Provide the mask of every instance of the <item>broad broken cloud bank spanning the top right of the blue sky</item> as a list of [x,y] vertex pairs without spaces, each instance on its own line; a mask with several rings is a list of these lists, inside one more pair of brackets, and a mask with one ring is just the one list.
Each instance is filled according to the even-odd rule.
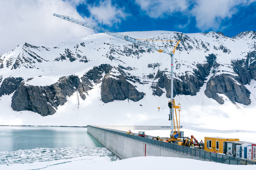
[[[249,6],[256,0],[135,0],[142,11],[151,18],[165,18],[179,14],[190,18],[195,17],[196,27],[201,31],[212,29],[214,31],[225,29],[229,25],[221,26],[239,11],[241,6]],[[171,21],[170,21],[171,22]],[[187,25],[177,25],[185,28]]]

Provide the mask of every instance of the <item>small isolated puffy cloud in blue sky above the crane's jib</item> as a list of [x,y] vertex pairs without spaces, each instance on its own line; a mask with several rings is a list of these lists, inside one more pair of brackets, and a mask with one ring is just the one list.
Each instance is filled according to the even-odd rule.
[[103,0],[98,5],[88,7],[91,16],[102,24],[113,26],[113,23],[120,23],[129,14],[124,12],[124,8],[118,8],[111,4],[111,0]]

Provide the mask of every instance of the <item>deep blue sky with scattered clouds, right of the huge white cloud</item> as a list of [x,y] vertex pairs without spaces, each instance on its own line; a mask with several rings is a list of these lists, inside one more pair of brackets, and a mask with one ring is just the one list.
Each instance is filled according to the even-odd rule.
[[[256,1],[249,0],[88,0],[76,9],[115,32],[215,31],[231,37],[256,31]],[[100,11],[108,11],[109,18],[98,14]]]

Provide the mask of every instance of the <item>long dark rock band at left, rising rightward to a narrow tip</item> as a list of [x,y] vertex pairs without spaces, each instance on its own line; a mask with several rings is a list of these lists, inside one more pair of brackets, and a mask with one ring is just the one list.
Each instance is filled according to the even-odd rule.
[[[31,86],[24,84],[19,86],[23,79],[12,78],[12,81],[6,80],[7,83],[12,82],[13,86],[6,93],[10,94],[16,90],[13,94],[11,104],[12,109],[15,111],[29,110],[39,113],[42,116],[52,115],[56,112],[59,105],[62,106],[67,102],[66,97],[70,97],[77,90],[81,98],[85,100],[85,93],[92,89],[92,83],[98,83],[102,78],[103,72],[108,73],[110,70],[110,65],[102,64],[83,75],[81,77],[82,82],[78,76],[70,75],[61,77],[57,83],[50,86]],[[16,86],[14,86],[15,82],[17,82]],[[1,89],[6,89],[6,83],[3,82],[3,84]],[[17,86],[19,87],[17,88]]]

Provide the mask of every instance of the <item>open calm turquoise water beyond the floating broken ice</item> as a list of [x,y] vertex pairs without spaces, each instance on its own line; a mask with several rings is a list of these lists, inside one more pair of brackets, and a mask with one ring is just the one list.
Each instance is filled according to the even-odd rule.
[[101,147],[87,128],[0,126],[0,152],[35,148]]

